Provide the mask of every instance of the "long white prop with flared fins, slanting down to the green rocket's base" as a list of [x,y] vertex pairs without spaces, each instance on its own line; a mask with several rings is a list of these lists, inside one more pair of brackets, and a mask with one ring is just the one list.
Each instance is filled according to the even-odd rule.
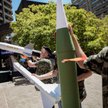
[[44,84],[35,76],[19,64],[16,60],[13,60],[13,65],[24,77],[26,77],[31,83],[41,91],[42,102],[44,108],[52,108],[55,103],[58,103],[61,99],[60,85],[59,84]]

